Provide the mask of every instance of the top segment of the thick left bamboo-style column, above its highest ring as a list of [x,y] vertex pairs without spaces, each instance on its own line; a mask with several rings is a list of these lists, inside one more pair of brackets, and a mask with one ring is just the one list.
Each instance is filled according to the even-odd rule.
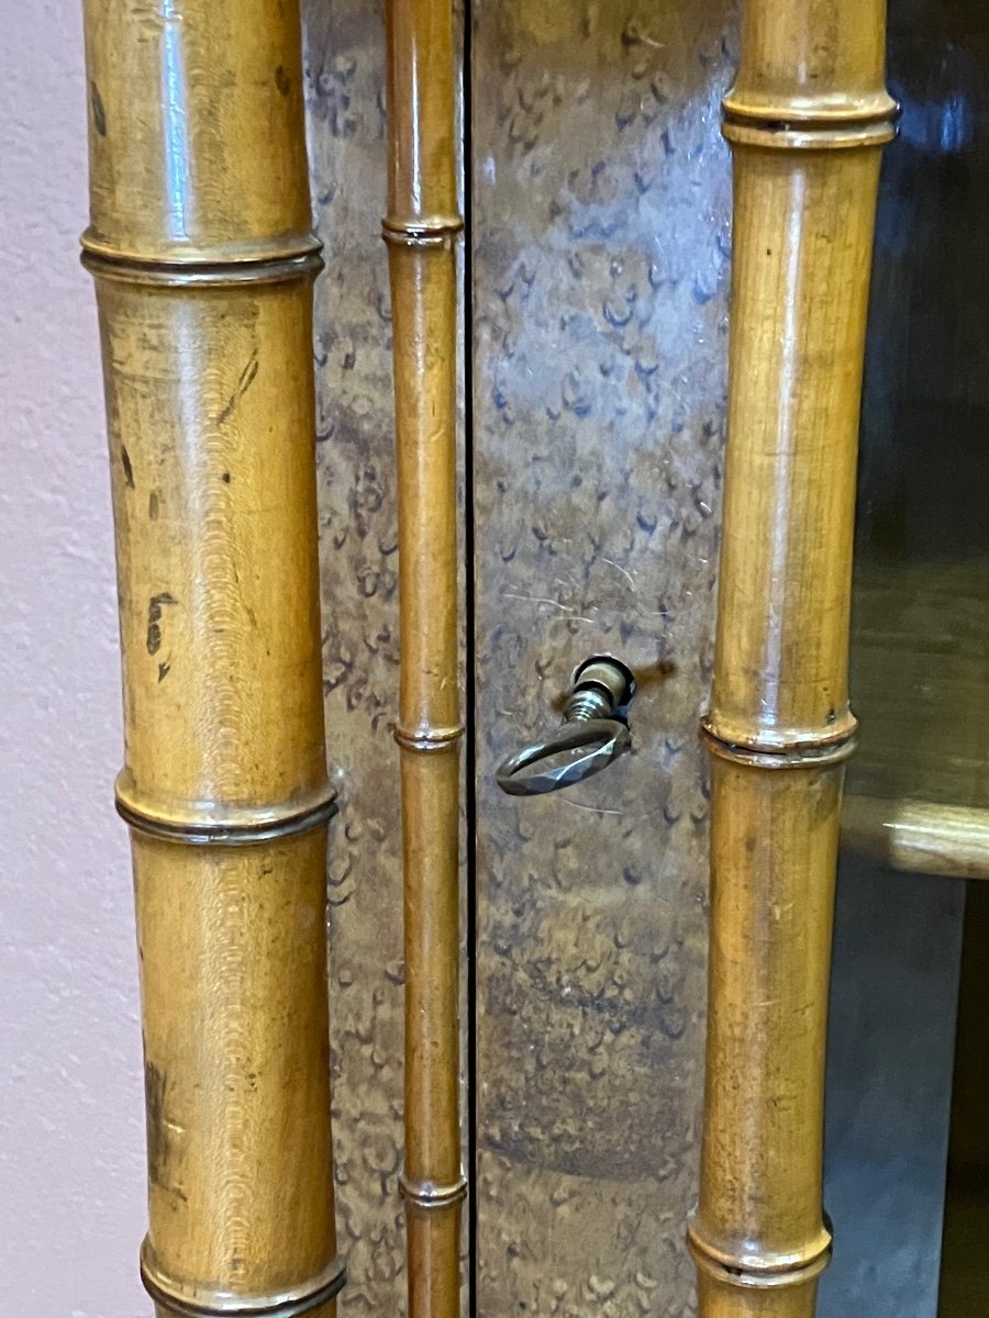
[[86,0],[90,252],[196,265],[314,246],[298,0],[269,8]]

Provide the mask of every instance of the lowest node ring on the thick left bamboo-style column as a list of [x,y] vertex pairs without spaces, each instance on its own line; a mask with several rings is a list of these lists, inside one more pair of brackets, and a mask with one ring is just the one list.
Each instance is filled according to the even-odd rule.
[[299,1318],[328,1304],[347,1284],[347,1260],[335,1255],[322,1272],[298,1286],[270,1296],[240,1296],[232,1290],[190,1289],[166,1276],[150,1240],[141,1246],[141,1281],[156,1305],[178,1318]]

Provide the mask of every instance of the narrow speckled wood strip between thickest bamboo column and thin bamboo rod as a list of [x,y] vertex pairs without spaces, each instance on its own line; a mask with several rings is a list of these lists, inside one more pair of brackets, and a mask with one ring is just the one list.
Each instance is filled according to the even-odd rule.
[[[326,261],[315,355],[324,699],[340,792],[330,903],[338,1218],[348,1253],[342,1311],[378,1315],[402,1313],[406,1304],[402,824],[392,739],[400,712],[400,482],[381,240],[384,0],[307,0],[303,28],[313,195]],[[462,978],[463,970],[462,953]]]

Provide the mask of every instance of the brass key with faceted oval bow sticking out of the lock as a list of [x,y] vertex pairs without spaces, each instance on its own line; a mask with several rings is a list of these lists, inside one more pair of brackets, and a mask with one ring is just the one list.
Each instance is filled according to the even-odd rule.
[[509,755],[497,783],[509,796],[542,796],[583,783],[632,749],[628,706],[636,679],[613,655],[592,655],[574,670],[563,724]]

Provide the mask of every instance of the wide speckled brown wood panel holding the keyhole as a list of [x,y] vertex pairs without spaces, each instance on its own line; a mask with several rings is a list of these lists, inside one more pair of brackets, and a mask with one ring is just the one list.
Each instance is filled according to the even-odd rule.
[[[473,7],[477,1311],[692,1313],[731,5]],[[634,754],[498,793],[597,650]]]

